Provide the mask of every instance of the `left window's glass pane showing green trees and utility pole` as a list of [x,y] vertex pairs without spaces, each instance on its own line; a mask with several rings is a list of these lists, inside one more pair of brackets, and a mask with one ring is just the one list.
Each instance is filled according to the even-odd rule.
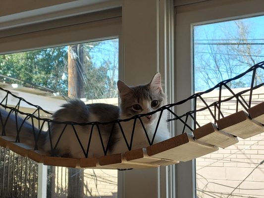
[[[117,105],[117,79],[118,39],[0,56],[0,87],[50,112],[59,109],[69,98],[80,98],[85,103]],[[23,102],[20,107],[23,111],[32,112]],[[43,113],[42,117],[50,115]],[[1,151],[0,158],[4,159],[5,155],[8,158],[9,153]],[[5,167],[3,163],[0,160],[0,170]],[[5,180],[0,181],[3,181],[1,186],[10,186],[10,180],[6,184]],[[34,182],[37,184],[36,178]],[[36,193],[34,189],[31,194],[36,196]],[[47,197],[116,198],[117,170],[48,166]]]

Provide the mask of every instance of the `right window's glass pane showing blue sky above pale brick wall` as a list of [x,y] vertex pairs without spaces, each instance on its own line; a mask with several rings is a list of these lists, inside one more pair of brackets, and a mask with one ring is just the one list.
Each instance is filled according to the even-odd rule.
[[[205,91],[217,83],[233,78],[264,60],[264,16],[194,26],[194,87]],[[251,74],[228,84],[238,93],[251,86]],[[258,70],[254,85],[264,82]],[[264,88],[253,91],[252,106],[264,101]],[[217,101],[219,90],[204,97],[208,104]],[[222,97],[231,97],[223,89]],[[249,99],[249,93],[243,95]],[[197,108],[205,105],[197,100]],[[241,105],[238,105],[238,110]],[[236,112],[235,99],[221,105],[223,116]],[[202,126],[211,119],[209,111],[197,113]],[[198,198],[263,198],[264,133],[196,159]]]

